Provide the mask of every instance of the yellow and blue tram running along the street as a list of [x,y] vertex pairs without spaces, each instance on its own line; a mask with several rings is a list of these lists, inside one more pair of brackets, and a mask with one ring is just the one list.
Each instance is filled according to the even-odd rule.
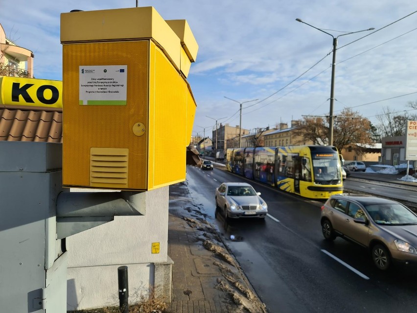
[[343,193],[334,146],[290,145],[227,149],[227,170],[311,199]]

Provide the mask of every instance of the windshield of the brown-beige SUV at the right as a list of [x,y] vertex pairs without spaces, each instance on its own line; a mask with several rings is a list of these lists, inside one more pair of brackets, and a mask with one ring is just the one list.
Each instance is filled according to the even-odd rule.
[[366,209],[379,225],[417,225],[417,216],[399,203],[370,204]]

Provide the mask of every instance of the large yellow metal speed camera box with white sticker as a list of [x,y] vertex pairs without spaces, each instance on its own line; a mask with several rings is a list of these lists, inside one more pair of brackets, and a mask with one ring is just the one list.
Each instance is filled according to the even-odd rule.
[[198,46],[185,20],[172,24],[153,7],[61,14],[64,186],[147,191],[185,180]]

